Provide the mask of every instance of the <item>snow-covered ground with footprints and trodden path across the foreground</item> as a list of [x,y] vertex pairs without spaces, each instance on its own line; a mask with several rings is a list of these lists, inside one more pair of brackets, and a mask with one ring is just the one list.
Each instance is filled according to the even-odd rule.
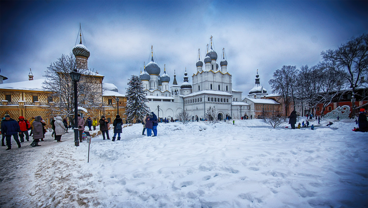
[[368,133],[353,121],[314,131],[230,122],[159,124],[157,137],[134,124],[122,141],[93,138],[89,163],[73,133],[56,143],[48,132],[41,147],[13,140],[0,150],[0,207],[368,206]]

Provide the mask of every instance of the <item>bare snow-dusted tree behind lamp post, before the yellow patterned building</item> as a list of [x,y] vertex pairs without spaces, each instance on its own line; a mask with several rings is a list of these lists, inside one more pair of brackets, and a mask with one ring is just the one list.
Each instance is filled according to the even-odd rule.
[[[74,56],[61,55],[56,62],[50,64],[45,71],[43,88],[50,92],[46,107],[49,118],[53,116],[68,117],[74,111],[74,83],[71,81],[70,72],[77,69]],[[78,107],[86,109],[102,109],[102,84],[100,78],[91,70],[77,69],[81,73],[78,82]],[[50,102],[52,101],[52,102]]]

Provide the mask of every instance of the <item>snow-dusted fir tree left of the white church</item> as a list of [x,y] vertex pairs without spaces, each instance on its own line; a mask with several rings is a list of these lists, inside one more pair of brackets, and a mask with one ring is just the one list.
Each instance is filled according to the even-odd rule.
[[143,84],[138,76],[132,75],[128,81],[128,88],[125,96],[127,97],[127,106],[125,107],[125,115],[129,121],[133,118],[142,120],[146,113],[149,113],[146,102],[146,92],[143,90]]

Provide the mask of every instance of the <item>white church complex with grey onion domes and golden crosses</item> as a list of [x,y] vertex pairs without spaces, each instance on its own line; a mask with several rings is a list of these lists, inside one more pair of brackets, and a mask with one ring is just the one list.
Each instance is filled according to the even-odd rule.
[[239,119],[247,115],[254,118],[264,111],[279,110],[280,103],[266,99],[268,94],[260,84],[258,70],[255,85],[249,91],[248,98],[241,98],[242,91],[233,89],[224,48],[219,69],[217,53],[212,48],[212,36],[210,47],[207,45],[204,66],[198,50],[197,70],[192,75],[192,83],[189,83],[185,69],[183,84],[177,84],[174,73],[173,83],[169,86],[170,76],[166,73],[165,66],[161,73],[161,68],[153,59],[152,47],[151,55],[151,62],[144,67],[139,77],[148,98],[146,104],[159,117],[176,118],[177,113],[185,110],[196,120],[197,117],[204,118],[206,110],[214,109],[217,118],[223,120],[227,116]]

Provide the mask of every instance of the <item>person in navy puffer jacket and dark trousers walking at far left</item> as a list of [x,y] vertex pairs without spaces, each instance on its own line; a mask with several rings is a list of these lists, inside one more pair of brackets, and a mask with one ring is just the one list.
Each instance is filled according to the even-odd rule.
[[18,132],[21,132],[21,129],[19,128],[18,122],[10,118],[9,115],[6,115],[5,120],[1,123],[1,132],[5,133],[6,146],[8,146],[6,150],[11,150],[11,136],[13,136],[15,142],[17,142],[18,148],[21,147],[21,143],[18,139]]

